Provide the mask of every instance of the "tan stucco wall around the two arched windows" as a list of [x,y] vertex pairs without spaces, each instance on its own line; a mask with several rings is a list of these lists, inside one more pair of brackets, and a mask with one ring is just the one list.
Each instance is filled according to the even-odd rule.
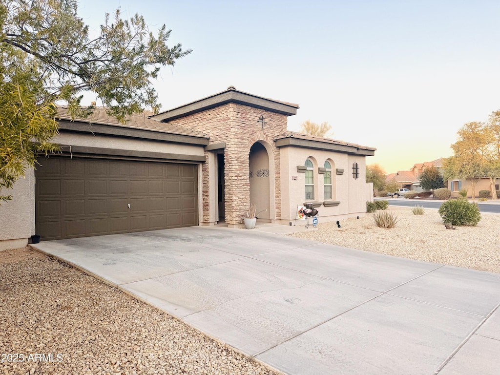
[[[309,157],[314,165],[314,200],[324,201],[323,174],[318,173],[325,160],[332,164],[332,200],[339,200],[338,206],[325,207],[321,205],[319,211],[320,221],[336,220],[339,218],[363,216],[366,212],[366,197],[368,185],[365,183],[365,158],[364,156],[351,156],[345,153],[313,150],[300,147],[281,147],[281,193],[282,215],[281,222],[287,223],[295,218],[297,205],[302,205],[305,200],[305,173],[297,172],[297,165],[304,165]],[[352,178],[352,163],[359,164],[359,178]],[[334,164],[334,165],[333,165]],[[343,174],[335,174],[335,168],[344,169]],[[292,180],[297,176],[297,180]]]

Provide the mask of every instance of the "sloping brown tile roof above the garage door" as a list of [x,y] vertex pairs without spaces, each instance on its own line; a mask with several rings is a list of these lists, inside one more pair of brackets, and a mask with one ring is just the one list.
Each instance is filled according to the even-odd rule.
[[77,117],[71,119],[71,116],[67,110],[67,106],[62,106],[62,105],[57,106],[57,118],[61,120],[95,123],[95,124],[110,125],[110,126],[121,126],[121,127],[129,127],[142,130],[159,131],[163,133],[192,135],[197,137],[202,136],[208,138],[208,135],[202,132],[188,129],[168,122],[158,122],[151,118],[148,118],[148,116],[152,114],[153,113],[151,111],[146,111],[146,110],[143,111],[141,114],[132,114],[129,118],[127,118],[127,121],[123,124],[119,122],[116,118],[109,116],[106,113],[106,109],[104,107],[96,107],[93,113],[86,118]]

